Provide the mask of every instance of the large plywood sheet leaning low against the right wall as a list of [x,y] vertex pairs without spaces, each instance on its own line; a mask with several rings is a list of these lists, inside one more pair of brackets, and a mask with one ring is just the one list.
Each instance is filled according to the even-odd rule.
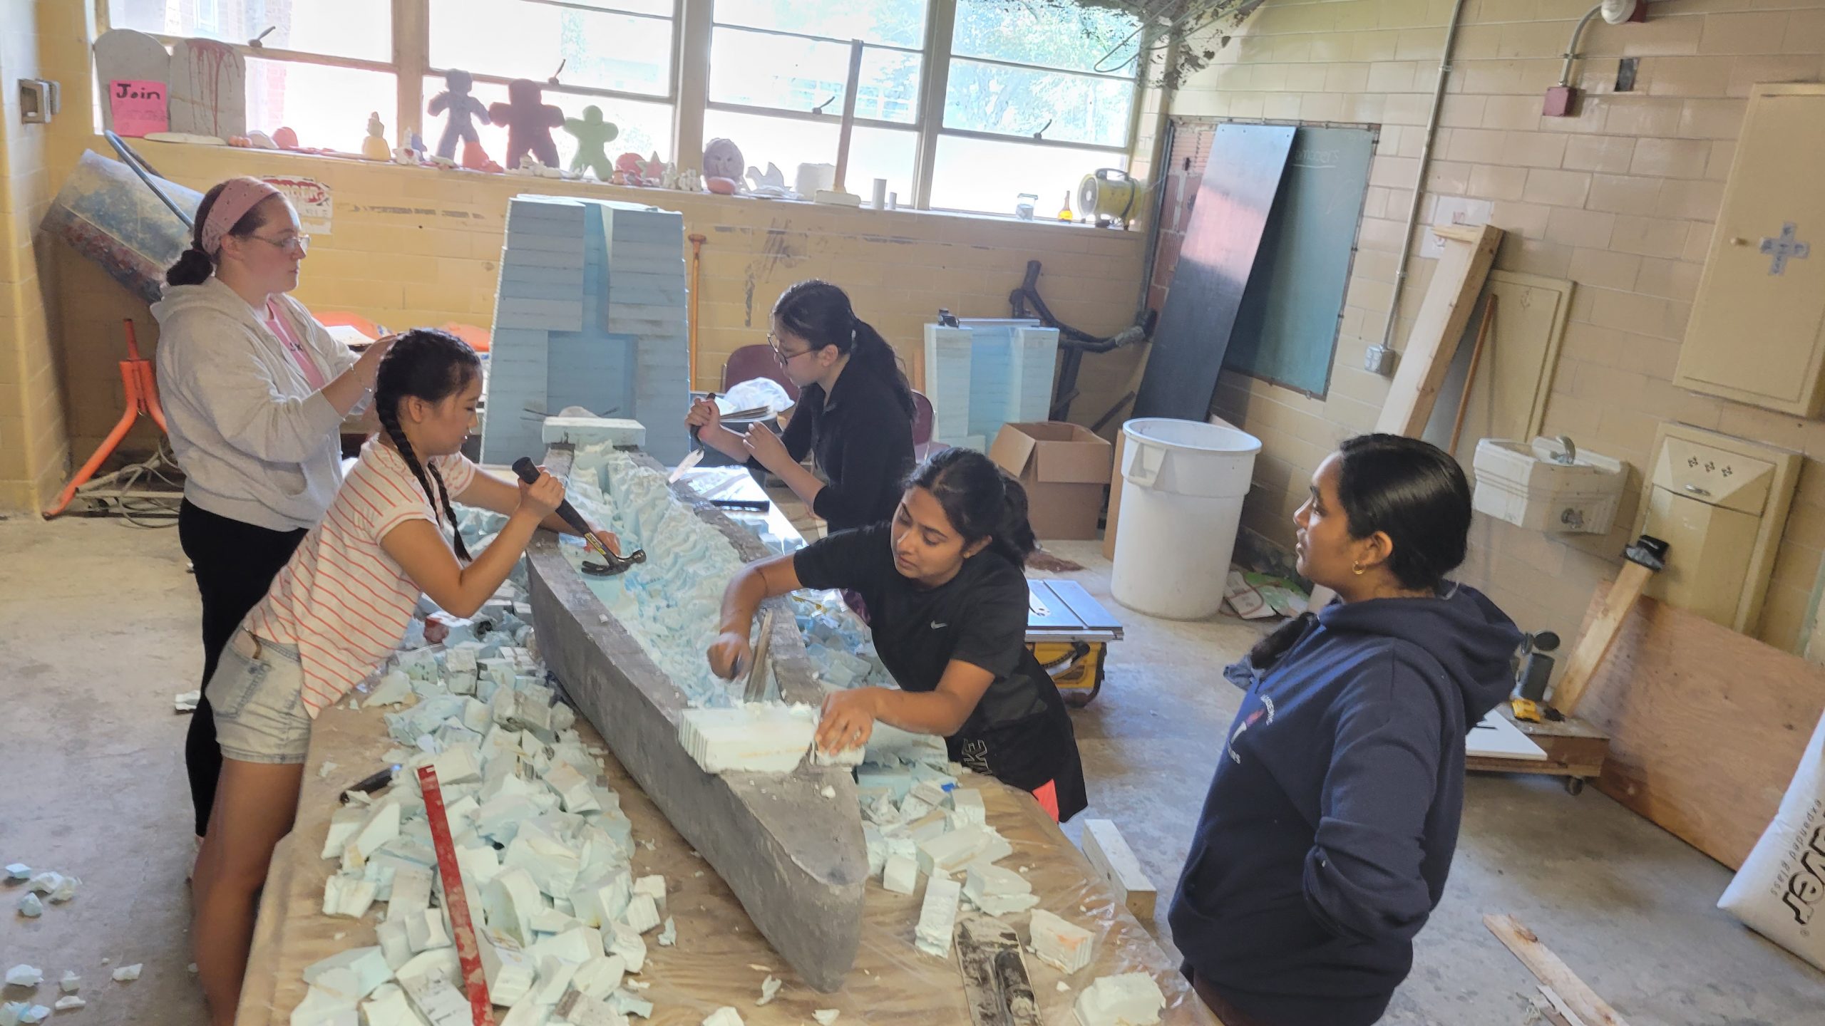
[[[1597,590],[1586,621],[1606,595]],[[1582,716],[1610,734],[1599,790],[1739,869],[1821,710],[1825,668],[1644,597],[1599,665]]]

